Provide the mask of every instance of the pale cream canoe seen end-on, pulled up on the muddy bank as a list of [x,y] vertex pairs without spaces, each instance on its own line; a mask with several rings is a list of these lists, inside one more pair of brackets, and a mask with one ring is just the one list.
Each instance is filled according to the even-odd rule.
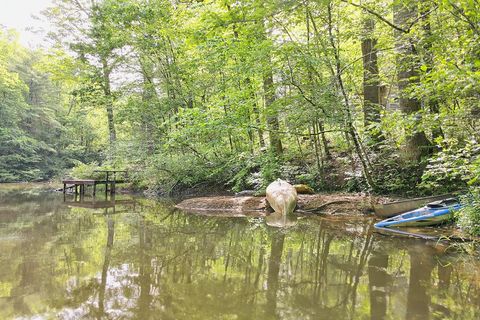
[[288,182],[277,179],[267,187],[267,201],[277,213],[293,213],[297,206],[297,190]]

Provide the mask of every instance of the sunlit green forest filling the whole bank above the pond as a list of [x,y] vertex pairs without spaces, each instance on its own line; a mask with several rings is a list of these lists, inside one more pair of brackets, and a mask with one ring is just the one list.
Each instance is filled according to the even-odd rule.
[[480,175],[480,3],[55,0],[0,29],[0,182],[432,194]]

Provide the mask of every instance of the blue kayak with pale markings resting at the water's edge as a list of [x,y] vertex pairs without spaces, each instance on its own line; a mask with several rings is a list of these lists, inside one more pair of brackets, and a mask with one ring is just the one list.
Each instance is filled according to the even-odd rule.
[[419,209],[409,211],[393,218],[382,220],[375,224],[376,228],[388,227],[422,227],[441,224],[453,217],[453,212],[462,205],[451,198],[435,201]]

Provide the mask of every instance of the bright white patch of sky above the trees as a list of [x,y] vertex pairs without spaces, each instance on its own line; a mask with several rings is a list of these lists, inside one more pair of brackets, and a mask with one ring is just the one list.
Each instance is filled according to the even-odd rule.
[[20,33],[20,41],[24,45],[32,47],[42,45],[45,35],[43,31],[48,30],[48,24],[42,21],[44,18],[40,11],[50,6],[51,3],[51,0],[2,0],[0,25],[8,29],[16,29]]

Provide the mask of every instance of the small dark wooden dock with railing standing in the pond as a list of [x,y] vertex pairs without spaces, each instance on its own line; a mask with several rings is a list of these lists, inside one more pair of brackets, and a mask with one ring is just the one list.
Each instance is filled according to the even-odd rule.
[[104,173],[105,179],[64,179],[63,193],[66,193],[68,189],[75,190],[75,194],[80,196],[85,195],[85,190],[90,186],[92,187],[92,195],[97,193],[97,185],[105,185],[105,193],[110,191],[110,194],[115,193],[115,186],[120,183],[125,183],[125,179],[116,179],[117,173],[123,173],[127,175],[125,170],[95,170],[94,172]]

